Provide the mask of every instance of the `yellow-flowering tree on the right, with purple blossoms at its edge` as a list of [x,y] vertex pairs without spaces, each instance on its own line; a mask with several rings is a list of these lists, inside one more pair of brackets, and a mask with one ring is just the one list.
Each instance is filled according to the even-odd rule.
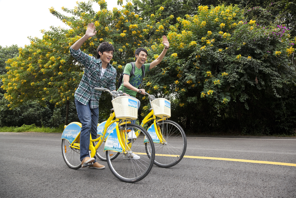
[[[243,131],[250,123],[257,127],[270,118],[274,124],[266,122],[259,130],[266,126],[294,130],[295,121],[289,127],[280,122],[287,115],[295,118],[289,110],[292,103],[287,102],[291,100],[287,94],[295,95],[295,38],[289,38],[286,27],[260,26],[255,20],[245,20],[238,7],[223,5],[200,6],[197,15],[177,20],[171,26],[160,24],[170,28],[170,55],[146,79],[152,92],[175,98],[182,109],[176,117],[183,126],[205,120],[206,109],[222,116],[217,119],[237,120]],[[152,45],[150,57],[157,57],[162,48]],[[265,116],[256,118],[257,123],[245,119],[247,110],[255,109]],[[204,122],[201,128],[211,124]]]

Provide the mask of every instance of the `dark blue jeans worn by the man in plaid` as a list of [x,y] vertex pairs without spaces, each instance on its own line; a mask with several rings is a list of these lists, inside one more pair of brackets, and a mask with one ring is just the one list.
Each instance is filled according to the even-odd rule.
[[[96,139],[97,127],[99,121],[99,107],[92,109],[90,100],[87,105],[82,104],[75,99],[78,118],[82,124],[80,132],[80,161],[89,157],[90,134],[92,139]],[[96,156],[94,156],[96,162]]]

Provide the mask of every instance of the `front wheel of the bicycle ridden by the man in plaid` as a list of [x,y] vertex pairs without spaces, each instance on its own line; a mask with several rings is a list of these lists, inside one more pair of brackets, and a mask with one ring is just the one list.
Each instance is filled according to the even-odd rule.
[[[134,183],[145,178],[152,169],[155,148],[152,138],[143,127],[136,124],[126,124],[123,125],[121,130],[126,128],[139,132],[137,139],[128,142],[131,148],[130,153],[119,153],[115,159],[111,160],[112,155],[110,156],[110,154],[112,151],[106,151],[106,158],[108,166],[115,177],[124,182]],[[149,147],[145,146],[144,139],[147,142],[145,144],[150,145]],[[146,149],[149,149],[149,151],[146,151]]]

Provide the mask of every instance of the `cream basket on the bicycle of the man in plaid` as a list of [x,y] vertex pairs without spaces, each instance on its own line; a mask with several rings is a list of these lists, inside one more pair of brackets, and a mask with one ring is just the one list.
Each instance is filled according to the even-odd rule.
[[138,100],[128,96],[119,96],[112,101],[115,117],[118,119],[138,118]]

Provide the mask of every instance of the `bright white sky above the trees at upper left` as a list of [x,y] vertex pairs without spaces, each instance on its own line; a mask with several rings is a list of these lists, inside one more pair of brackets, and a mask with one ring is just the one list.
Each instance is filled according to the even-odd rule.
[[[30,45],[28,36],[42,38],[42,29],[50,30],[50,26],[69,28],[52,15],[49,8],[54,7],[57,12],[68,15],[61,7],[73,9],[77,5],[76,1],[88,0],[0,0],[0,45],[24,47]],[[113,7],[121,9],[121,6],[117,5],[117,0],[106,2],[109,10]],[[126,4],[126,1],[123,4]],[[98,11],[99,5],[93,3],[93,9]]]

